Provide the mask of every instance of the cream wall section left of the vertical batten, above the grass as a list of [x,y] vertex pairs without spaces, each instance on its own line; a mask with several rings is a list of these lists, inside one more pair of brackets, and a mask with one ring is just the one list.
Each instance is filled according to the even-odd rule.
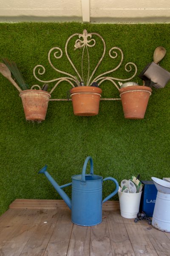
[[0,0],[0,21],[82,21],[81,0]]

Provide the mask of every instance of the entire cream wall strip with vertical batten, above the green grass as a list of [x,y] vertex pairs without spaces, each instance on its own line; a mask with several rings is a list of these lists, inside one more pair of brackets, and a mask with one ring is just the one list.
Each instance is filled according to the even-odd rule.
[[170,0],[0,0],[0,21],[170,22]]

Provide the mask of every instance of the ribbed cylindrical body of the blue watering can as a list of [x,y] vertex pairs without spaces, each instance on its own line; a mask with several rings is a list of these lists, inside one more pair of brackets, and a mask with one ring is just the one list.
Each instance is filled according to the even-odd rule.
[[[85,175],[85,183],[81,175],[72,177],[71,221],[81,226],[93,226],[102,221],[102,177]],[[87,180],[88,179],[88,180]]]

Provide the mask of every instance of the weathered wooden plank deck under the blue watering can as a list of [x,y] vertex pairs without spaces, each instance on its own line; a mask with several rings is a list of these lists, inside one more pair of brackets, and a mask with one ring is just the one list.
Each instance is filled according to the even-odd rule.
[[105,204],[101,224],[81,227],[62,201],[14,201],[0,216],[0,256],[170,256],[170,233],[110,208]]

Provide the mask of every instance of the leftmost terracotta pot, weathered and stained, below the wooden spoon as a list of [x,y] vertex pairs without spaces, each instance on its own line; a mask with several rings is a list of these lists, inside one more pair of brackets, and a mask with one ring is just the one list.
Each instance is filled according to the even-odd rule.
[[43,121],[51,95],[43,90],[23,90],[20,93],[26,120]]

